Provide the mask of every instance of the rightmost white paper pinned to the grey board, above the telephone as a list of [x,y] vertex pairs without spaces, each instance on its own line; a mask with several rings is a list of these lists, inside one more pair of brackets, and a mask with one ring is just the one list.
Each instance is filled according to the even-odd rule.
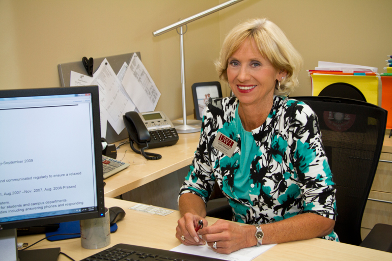
[[132,56],[122,84],[138,111],[155,110],[160,92],[136,53]]

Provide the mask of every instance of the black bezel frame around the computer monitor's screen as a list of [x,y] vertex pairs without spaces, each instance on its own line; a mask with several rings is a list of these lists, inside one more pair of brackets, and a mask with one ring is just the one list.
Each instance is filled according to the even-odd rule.
[[94,126],[93,135],[94,135],[96,191],[97,191],[96,200],[97,200],[97,207],[98,207],[97,211],[0,222],[0,230],[76,221],[76,220],[91,219],[91,218],[98,218],[98,217],[105,216],[98,86],[92,85],[92,86],[75,86],[75,87],[65,87],[65,88],[58,87],[58,88],[42,88],[42,89],[0,90],[0,98],[87,94],[87,93],[91,94],[92,97],[93,126]]

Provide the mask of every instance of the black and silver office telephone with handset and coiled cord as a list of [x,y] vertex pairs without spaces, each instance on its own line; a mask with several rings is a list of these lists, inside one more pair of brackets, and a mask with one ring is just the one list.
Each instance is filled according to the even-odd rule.
[[[162,156],[146,153],[145,149],[172,146],[178,141],[177,131],[163,111],[129,111],[123,115],[123,119],[128,131],[131,149],[142,154],[146,159],[157,160]],[[133,142],[136,142],[140,151],[134,148]]]

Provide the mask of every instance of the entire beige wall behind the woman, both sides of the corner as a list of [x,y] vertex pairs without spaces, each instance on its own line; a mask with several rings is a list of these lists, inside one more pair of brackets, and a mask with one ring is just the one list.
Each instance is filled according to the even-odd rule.
[[[0,89],[60,86],[57,65],[81,57],[140,51],[162,96],[157,110],[182,116],[180,47],[175,31],[152,32],[225,0],[0,0]],[[268,17],[304,57],[301,87],[310,95],[306,69],[318,61],[378,67],[392,54],[390,0],[244,0],[188,25],[185,41],[187,113],[190,86],[218,80],[213,61],[227,32],[246,18]],[[223,84],[223,95],[229,91]]]

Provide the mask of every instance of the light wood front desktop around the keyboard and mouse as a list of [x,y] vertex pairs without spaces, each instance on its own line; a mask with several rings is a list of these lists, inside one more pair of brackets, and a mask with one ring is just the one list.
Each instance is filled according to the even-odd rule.
[[[123,220],[117,223],[118,230],[111,234],[110,246],[119,243],[154,247],[170,250],[180,244],[175,237],[177,220],[180,217],[178,211],[167,216],[150,215],[143,212],[129,210],[136,203],[105,198],[106,207],[119,206],[126,212]],[[207,217],[209,224],[216,219]],[[43,235],[18,237],[18,242],[29,243],[29,245],[43,238]],[[86,258],[102,249],[84,249],[80,246],[80,239],[69,239],[63,241],[49,242],[44,240],[31,249],[61,247],[61,251],[75,260]],[[311,239],[297,242],[278,244],[254,260],[392,260],[392,253],[382,252],[369,248],[352,246],[323,239]],[[60,255],[60,261],[69,260]]]

